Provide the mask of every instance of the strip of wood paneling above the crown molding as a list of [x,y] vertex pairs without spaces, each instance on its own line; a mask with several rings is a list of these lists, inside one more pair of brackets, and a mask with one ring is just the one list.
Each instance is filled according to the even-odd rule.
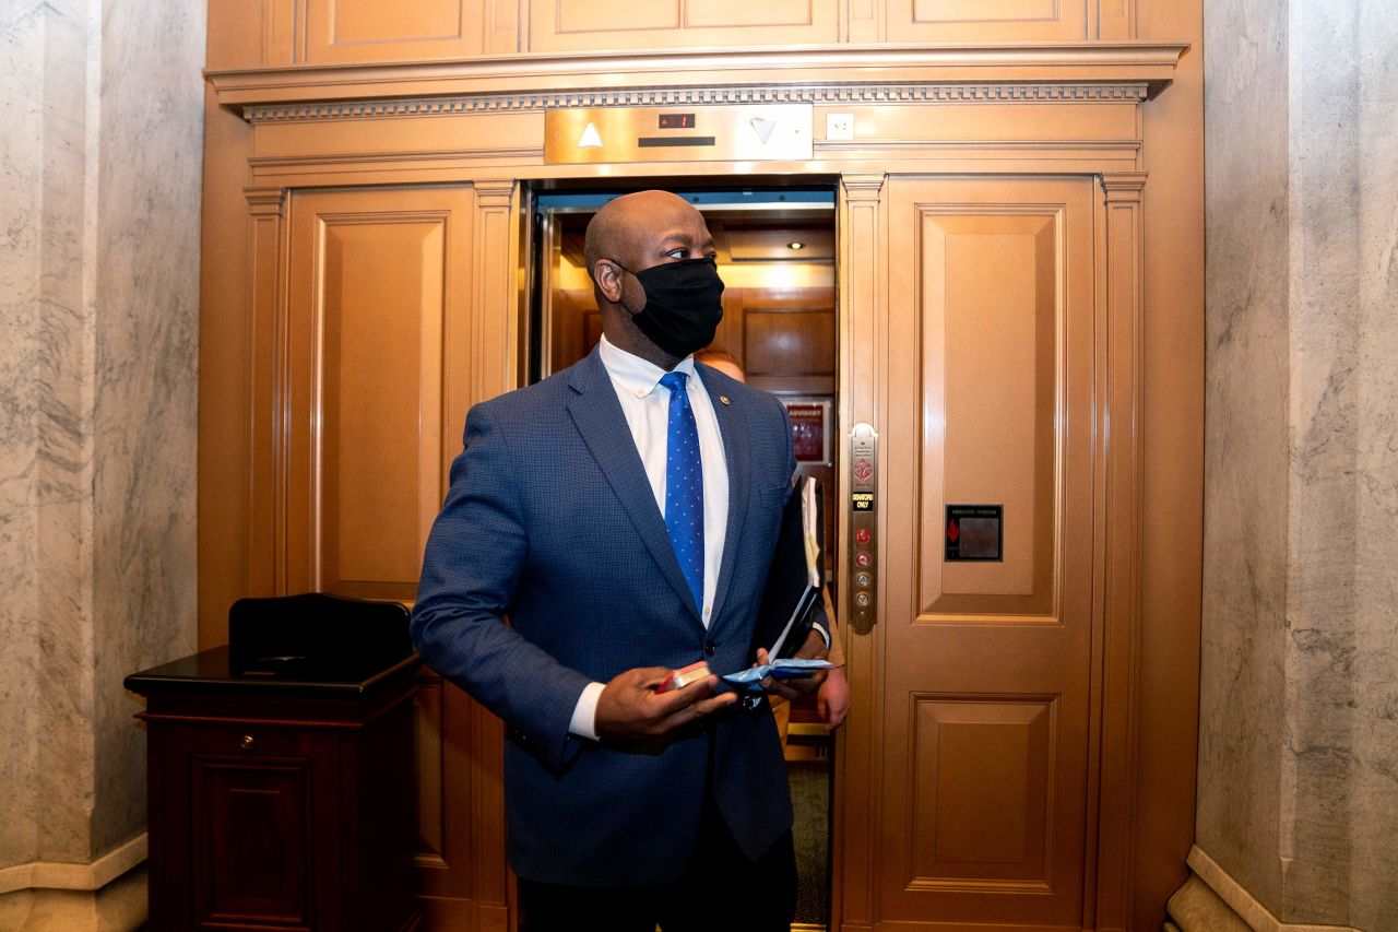
[[210,0],[208,67],[1137,36],[1134,0]]

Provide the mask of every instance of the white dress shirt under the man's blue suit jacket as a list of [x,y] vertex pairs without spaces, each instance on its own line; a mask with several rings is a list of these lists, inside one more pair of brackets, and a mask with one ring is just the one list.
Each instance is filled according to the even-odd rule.
[[[611,376],[622,414],[636,441],[636,452],[646,467],[650,491],[656,497],[660,515],[665,514],[665,449],[670,432],[670,389],[660,385],[665,369],[647,362],[639,355],[612,346],[601,339],[598,355]],[[709,390],[695,372],[693,357],[685,357],[675,372],[689,376],[685,389],[689,393],[689,407],[695,413],[699,430],[699,458],[703,463],[703,606],[699,617],[709,627],[713,613],[713,598],[719,588],[719,564],[723,560],[723,544],[728,533],[728,463],[723,452],[723,435],[719,432],[719,418],[713,413]],[[569,730],[580,737],[597,737],[597,698],[603,683],[589,683],[577,705]]]

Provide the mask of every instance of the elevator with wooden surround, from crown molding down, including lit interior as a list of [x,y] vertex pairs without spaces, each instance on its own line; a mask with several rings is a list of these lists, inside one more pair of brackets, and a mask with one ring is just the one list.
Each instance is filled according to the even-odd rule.
[[[212,73],[201,638],[229,596],[411,600],[466,411],[598,336],[586,217],[668,188],[829,497],[811,925],[1146,928],[1192,831],[1188,185],[1145,158],[1183,46],[1093,42]],[[503,932],[499,722],[421,686],[428,925]]]

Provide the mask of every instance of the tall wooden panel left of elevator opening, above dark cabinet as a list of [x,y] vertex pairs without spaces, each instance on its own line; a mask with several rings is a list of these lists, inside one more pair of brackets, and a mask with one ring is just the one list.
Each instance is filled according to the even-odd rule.
[[445,494],[470,189],[292,199],[287,591],[411,600]]

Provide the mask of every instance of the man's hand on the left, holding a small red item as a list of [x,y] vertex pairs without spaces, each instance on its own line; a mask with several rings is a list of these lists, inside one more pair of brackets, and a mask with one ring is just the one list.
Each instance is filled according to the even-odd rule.
[[663,666],[639,666],[619,673],[597,698],[597,736],[603,740],[647,740],[703,722],[733,705],[738,696],[713,696],[719,677],[710,676],[679,690],[656,693],[670,670]]

